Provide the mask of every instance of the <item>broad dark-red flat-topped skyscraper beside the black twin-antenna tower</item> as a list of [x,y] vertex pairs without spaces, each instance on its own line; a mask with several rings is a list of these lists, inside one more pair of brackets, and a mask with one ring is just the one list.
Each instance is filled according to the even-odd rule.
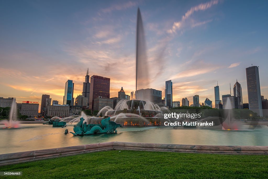
[[90,78],[89,109],[93,109],[94,99],[99,96],[110,98],[110,78],[93,75]]

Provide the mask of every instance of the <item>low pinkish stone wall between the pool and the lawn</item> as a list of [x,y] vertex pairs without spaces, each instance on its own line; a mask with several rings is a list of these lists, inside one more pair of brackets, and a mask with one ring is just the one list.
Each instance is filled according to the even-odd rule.
[[134,142],[105,142],[0,155],[0,166],[108,150],[142,150],[207,154],[268,154],[268,146],[202,146]]

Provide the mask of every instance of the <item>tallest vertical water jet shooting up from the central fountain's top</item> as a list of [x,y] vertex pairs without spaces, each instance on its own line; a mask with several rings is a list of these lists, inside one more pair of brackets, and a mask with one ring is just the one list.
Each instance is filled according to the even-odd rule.
[[[140,8],[138,8],[136,29],[136,91],[138,89],[149,88],[150,80],[148,79],[148,69],[142,15],[140,14]],[[135,96],[135,98],[144,100],[142,95]]]

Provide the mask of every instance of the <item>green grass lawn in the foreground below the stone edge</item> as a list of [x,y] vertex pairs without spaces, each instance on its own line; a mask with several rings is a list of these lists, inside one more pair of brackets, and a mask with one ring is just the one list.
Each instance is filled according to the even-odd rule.
[[[268,155],[118,150],[0,167],[16,178],[268,178]],[[13,177],[5,177],[13,178]]]

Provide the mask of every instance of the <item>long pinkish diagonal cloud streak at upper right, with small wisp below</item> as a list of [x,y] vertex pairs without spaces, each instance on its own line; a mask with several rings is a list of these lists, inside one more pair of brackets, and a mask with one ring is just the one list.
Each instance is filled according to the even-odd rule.
[[[181,29],[185,25],[185,20],[187,20],[194,12],[200,11],[200,10],[204,11],[206,9],[209,9],[209,8],[211,8],[211,6],[218,4],[218,2],[219,2],[218,0],[212,0],[210,2],[202,3],[202,4],[199,4],[198,6],[192,7],[184,14],[184,16],[181,17],[181,21],[174,22],[172,29],[169,29],[167,32],[168,33],[176,33],[176,31],[178,29]],[[202,25],[202,23],[205,24],[207,22],[204,21],[204,22],[201,22],[195,26]]]

